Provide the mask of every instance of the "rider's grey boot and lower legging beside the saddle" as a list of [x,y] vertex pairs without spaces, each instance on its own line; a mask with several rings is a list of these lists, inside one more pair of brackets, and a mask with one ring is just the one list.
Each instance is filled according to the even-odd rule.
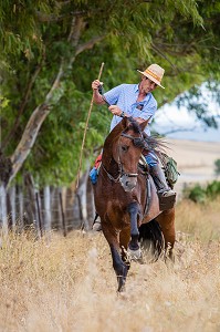
[[161,169],[159,164],[149,166],[149,174],[151,175],[155,181],[158,194],[160,194],[164,197],[176,195],[176,193],[168,187],[164,170]]

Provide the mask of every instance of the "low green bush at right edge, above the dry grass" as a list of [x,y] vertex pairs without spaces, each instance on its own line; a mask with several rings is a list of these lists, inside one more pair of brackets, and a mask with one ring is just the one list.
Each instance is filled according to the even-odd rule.
[[185,189],[185,195],[195,203],[205,203],[207,199],[214,199],[220,195],[220,181],[214,180],[206,187],[197,184],[192,188]]

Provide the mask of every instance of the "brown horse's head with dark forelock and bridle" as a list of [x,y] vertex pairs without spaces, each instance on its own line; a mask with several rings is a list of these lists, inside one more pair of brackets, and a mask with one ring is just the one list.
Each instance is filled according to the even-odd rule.
[[143,149],[147,148],[143,132],[148,121],[138,124],[132,117],[124,118],[125,129],[113,145],[113,158],[118,164],[119,181],[125,191],[132,191],[137,184],[138,162]]

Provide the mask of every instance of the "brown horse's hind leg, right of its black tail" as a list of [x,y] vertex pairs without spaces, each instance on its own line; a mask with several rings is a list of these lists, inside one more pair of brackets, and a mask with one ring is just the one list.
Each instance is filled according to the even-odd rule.
[[168,250],[168,257],[174,260],[172,248],[176,240],[175,235],[175,208],[164,210],[156,220],[161,227],[165,237],[165,249]]

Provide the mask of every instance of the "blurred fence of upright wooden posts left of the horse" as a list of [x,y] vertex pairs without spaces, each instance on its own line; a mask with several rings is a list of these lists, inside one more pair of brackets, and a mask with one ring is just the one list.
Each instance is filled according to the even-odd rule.
[[0,187],[0,227],[23,230],[33,226],[39,236],[49,230],[61,230],[63,236],[70,230],[92,227],[94,211],[87,212],[88,204],[70,189],[45,187],[27,193],[15,186],[6,193]]

